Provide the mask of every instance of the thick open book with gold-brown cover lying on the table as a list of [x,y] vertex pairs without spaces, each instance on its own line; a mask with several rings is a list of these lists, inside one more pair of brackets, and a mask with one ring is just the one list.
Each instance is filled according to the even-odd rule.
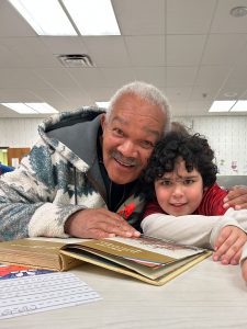
[[109,239],[21,239],[0,242],[0,262],[65,271],[92,263],[162,285],[212,252],[148,236]]

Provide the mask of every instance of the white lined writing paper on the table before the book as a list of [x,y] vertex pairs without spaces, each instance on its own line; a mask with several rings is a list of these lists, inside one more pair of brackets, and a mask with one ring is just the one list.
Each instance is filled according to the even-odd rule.
[[0,281],[0,319],[57,309],[102,299],[72,273]]

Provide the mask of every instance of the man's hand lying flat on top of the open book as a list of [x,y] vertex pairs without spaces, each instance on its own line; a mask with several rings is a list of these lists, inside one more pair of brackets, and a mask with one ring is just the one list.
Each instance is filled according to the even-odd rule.
[[65,232],[78,238],[132,238],[141,234],[120,215],[104,208],[83,209],[71,215],[65,223]]

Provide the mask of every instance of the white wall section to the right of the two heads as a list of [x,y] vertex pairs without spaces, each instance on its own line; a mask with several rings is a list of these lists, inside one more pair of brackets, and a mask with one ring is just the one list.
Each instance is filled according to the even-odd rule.
[[[177,117],[193,133],[204,135],[215,151],[221,174],[247,174],[247,116]],[[237,168],[232,169],[236,162]]]

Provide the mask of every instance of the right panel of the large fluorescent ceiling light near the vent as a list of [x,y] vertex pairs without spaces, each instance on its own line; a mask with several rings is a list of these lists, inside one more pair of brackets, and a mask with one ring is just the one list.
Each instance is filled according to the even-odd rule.
[[63,3],[82,35],[121,34],[110,0],[63,0]]

